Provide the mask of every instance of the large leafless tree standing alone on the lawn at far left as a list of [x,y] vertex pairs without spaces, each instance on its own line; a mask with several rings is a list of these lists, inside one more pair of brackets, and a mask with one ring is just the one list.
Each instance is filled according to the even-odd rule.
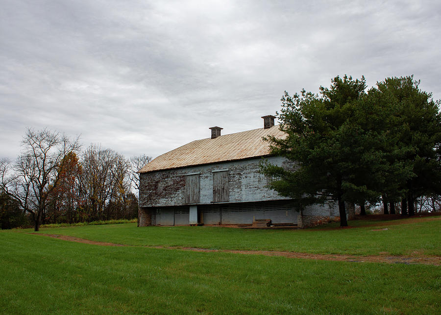
[[78,138],[71,141],[65,134],[48,129],[28,128],[22,141],[23,152],[15,165],[1,163],[0,188],[17,200],[34,221],[38,231],[49,202],[49,195],[60,181],[62,161],[69,152],[80,148]]

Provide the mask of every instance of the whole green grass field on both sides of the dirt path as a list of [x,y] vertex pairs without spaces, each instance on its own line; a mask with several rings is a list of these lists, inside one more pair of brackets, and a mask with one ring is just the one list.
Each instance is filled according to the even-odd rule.
[[0,231],[0,313],[440,314],[438,266],[143,247],[441,254],[440,219],[399,223],[388,230],[383,225],[269,231],[135,224],[41,230],[132,247]]

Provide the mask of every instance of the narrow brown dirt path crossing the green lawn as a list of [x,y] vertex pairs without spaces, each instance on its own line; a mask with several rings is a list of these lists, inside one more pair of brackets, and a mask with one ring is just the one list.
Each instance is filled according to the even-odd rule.
[[[70,241],[70,242],[80,242],[93,245],[101,246],[130,246],[130,247],[141,247],[141,246],[131,246],[124,244],[115,244],[109,242],[97,242],[85,239],[79,239],[73,236],[67,235],[56,235],[56,234],[40,234],[32,233],[36,235],[49,236],[57,238],[60,240]],[[165,248],[165,249],[180,249],[189,250],[196,252],[223,252],[223,253],[234,253],[234,254],[245,254],[245,255],[265,255],[265,256],[281,256],[287,258],[303,258],[303,259],[315,259],[315,260],[328,260],[328,261],[339,261],[339,262],[370,262],[370,263],[387,263],[387,264],[422,264],[422,265],[433,265],[441,266],[440,256],[388,256],[388,255],[370,255],[370,256],[355,256],[355,255],[324,255],[324,254],[308,254],[308,253],[296,253],[289,251],[271,251],[271,250],[231,250],[231,249],[205,249],[205,248],[194,248],[194,247],[179,247],[179,246],[145,246],[151,248]]]

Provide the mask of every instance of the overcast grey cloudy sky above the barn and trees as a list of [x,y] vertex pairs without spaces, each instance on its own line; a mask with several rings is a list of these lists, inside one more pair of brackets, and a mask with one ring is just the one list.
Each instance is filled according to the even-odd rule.
[[336,75],[414,74],[441,98],[440,1],[0,5],[0,157],[19,154],[26,127],[155,157],[211,126],[260,128],[285,90]]

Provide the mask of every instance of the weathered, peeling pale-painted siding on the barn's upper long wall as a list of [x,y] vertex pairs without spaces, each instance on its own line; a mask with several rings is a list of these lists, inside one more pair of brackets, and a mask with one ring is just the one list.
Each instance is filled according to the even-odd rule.
[[[213,171],[228,170],[229,202],[253,202],[288,199],[266,187],[268,179],[259,172],[261,158],[200,165],[174,170],[159,170],[140,174],[140,206],[164,207],[188,204],[185,200],[185,177],[200,173],[198,204],[213,203]],[[269,157],[270,163],[293,168],[283,157]]]

